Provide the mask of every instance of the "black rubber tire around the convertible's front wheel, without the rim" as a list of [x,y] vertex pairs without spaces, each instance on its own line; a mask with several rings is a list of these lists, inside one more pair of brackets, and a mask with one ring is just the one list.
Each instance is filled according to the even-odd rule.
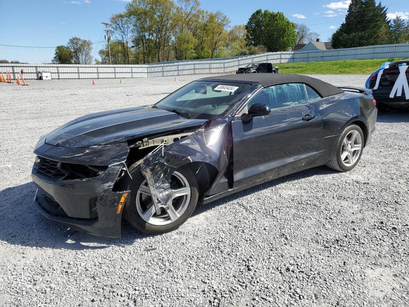
[[180,225],[190,218],[198,203],[199,188],[195,175],[188,168],[180,168],[177,172],[183,175],[189,182],[191,193],[189,205],[178,219],[166,225],[153,225],[141,218],[136,207],[136,195],[145,177],[142,175],[139,167],[131,167],[129,171],[132,175],[132,180],[130,183],[129,200],[124,208],[124,216],[134,228],[147,234],[162,234],[179,228]]

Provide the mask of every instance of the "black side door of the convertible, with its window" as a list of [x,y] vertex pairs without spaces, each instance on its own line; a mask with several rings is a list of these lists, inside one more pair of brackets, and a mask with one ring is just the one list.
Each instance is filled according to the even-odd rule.
[[[240,115],[254,103],[267,104],[271,113],[243,122]],[[322,129],[303,84],[261,89],[232,121],[235,187],[304,165],[317,153]]]

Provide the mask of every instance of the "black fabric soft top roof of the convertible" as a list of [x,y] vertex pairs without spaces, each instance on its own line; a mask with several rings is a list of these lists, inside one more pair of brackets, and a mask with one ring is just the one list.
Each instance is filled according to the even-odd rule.
[[342,89],[334,87],[333,85],[330,85],[329,83],[321,81],[319,79],[290,74],[267,74],[267,73],[235,74],[208,77],[200,80],[219,80],[228,82],[240,81],[251,83],[257,82],[261,84],[264,88],[285,83],[305,83],[306,85],[318,91],[322,97],[328,97],[344,92]]

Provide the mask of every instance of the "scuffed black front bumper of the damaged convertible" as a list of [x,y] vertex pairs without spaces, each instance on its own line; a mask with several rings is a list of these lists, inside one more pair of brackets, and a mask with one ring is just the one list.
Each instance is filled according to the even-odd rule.
[[96,178],[54,182],[32,173],[37,187],[34,205],[47,219],[93,235],[119,238],[122,211],[116,211],[125,191],[112,188],[120,171],[121,166],[115,165]]

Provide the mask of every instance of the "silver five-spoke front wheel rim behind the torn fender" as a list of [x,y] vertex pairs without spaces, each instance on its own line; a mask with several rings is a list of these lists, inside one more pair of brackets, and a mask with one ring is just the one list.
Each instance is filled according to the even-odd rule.
[[136,192],[135,205],[139,216],[149,224],[163,226],[179,219],[189,206],[191,192],[186,177],[175,171],[171,177],[172,201],[164,208],[161,214],[156,213],[151,192],[146,179],[141,183]]

